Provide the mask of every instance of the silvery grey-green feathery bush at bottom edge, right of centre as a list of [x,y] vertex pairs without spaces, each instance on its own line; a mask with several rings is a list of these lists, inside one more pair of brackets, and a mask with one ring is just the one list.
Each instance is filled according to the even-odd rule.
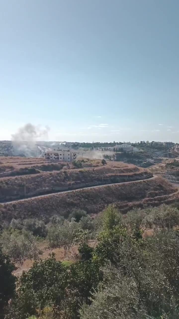
[[[113,275],[113,276],[112,276]],[[142,309],[140,294],[133,278],[123,277],[115,269],[108,272],[108,283],[99,286],[94,294],[94,300],[88,307],[83,306],[80,311],[82,319],[145,319],[147,314]]]

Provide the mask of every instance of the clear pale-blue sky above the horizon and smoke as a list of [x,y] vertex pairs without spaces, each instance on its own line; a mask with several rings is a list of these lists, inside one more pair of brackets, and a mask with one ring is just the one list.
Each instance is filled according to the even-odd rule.
[[178,0],[0,0],[0,139],[179,142]]

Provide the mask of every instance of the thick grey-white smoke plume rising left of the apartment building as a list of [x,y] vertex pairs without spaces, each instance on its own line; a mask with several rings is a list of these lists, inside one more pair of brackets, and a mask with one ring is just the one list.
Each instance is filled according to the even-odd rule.
[[15,134],[12,134],[12,146],[14,155],[25,155],[26,157],[38,155],[39,149],[36,142],[48,139],[49,128],[46,126],[41,129],[40,126],[32,125],[31,123],[25,124],[20,127]]

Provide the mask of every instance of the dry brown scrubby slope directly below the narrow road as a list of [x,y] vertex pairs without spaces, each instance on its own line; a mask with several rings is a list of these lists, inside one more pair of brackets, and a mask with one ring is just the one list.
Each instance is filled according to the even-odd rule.
[[0,204],[0,214],[3,220],[9,221],[12,218],[31,217],[48,219],[54,214],[68,217],[73,208],[81,208],[89,214],[96,214],[106,205],[113,203],[120,211],[126,212],[133,207],[158,206],[178,199],[178,189],[162,177],[154,177],[145,181],[78,189]]

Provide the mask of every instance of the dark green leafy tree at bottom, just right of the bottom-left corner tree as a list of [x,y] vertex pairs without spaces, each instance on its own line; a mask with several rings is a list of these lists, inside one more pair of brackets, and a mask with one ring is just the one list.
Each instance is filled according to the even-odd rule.
[[45,260],[36,260],[19,279],[17,296],[9,307],[9,314],[13,315],[9,318],[24,319],[38,315],[38,309],[47,304],[60,305],[65,297],[68,277],[66,267],[56,261],[54,254]]

